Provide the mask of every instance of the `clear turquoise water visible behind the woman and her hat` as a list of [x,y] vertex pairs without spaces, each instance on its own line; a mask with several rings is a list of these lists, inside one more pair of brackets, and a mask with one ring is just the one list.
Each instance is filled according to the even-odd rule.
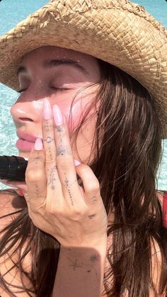
[[[166,0],[136,0],[160,23],[167,28],[167,1]],[[1,0],[0,1],[0,35],[13,28],[29,13],[39,9],[47,3],[47,0]],[[10,106],[16,101],[18,94],[6,86],[0,84],[0,155],[18,155],[16,150],[16,132],[10,115]],[[5,186],[0,184],[0,189]],[[163,141],[163,158],[158,174],[158,188],[167,190],[167,140]]]

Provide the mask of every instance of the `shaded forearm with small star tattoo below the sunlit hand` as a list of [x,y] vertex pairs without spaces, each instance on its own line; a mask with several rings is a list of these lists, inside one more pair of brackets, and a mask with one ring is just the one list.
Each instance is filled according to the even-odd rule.
[[61,247],[52,297],[100,297],[105,257],[105,247]]

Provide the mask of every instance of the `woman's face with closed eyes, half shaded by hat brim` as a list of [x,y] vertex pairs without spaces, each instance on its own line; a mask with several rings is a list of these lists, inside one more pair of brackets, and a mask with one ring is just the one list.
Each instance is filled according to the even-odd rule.
[[[71,103],[76,96],[69,127],[74,130],[98,90],[98,84],[84,87],[100,81],[100,69],[96,58],[81,52],[54,46],[40,47],[24,57],[18,68],[18,81],[23,91],[11,107],[11,115],[19,138],[16,142],[19,155],[28,157],[35,139],[42,138],[42,101],[48,99],[51,106],[56,103],[68,122]],[[91,119],[83,125],[76,140],[79,154],[72,147],[75,159],[88,162],[95,124],[96,108],[91,110]]]

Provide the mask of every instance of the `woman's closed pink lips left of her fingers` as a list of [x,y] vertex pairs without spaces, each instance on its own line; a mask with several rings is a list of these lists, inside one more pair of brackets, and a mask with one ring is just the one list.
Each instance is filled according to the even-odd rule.
[[30,152],[34,146],[34,142],[37,139],[34,135],[26,132],[18,132],[18,140],[16,142],[16,147],[18,150],[22,150],[23,152]]

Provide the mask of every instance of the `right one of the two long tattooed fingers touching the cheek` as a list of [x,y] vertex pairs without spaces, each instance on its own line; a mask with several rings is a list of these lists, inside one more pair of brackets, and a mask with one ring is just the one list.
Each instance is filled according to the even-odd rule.
[[[76,179],[74,157],[71,151],[69,131],[59,107],[54,105],[54,140],[56,143],[57,172],[62,184],[62,192],[69,206],[79,202],[79,184]],[[80,195],[81,196],[81,195]]]

